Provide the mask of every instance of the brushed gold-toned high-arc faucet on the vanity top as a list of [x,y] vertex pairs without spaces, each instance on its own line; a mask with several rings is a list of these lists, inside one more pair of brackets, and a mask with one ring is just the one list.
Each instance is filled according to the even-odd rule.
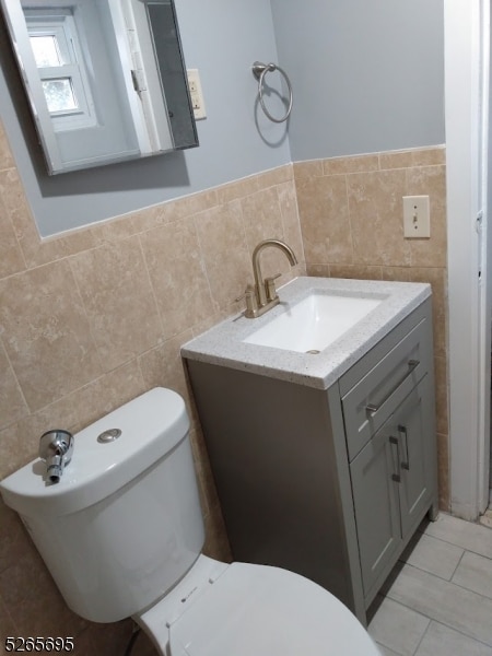
[[255,250],[253,251],[253,273],[255,276],[255,285],[248,284],[244,296],[242,296],[242,298],[246,298],[246,311],[244,316],[250,319],[260,317],[280,302],[276,290],[276,280],[279,278],[279,276],[281,276],[281,273],[277,273],[277,276],[266,278],[265,280],[261,274],[260,255],[265,248],[269,248],[270,246],[282,250],[292,267],[297,263],[297,258],[295,257],[292,248],[280,239],[265,239],[265,242],[260,242],[256,246]]

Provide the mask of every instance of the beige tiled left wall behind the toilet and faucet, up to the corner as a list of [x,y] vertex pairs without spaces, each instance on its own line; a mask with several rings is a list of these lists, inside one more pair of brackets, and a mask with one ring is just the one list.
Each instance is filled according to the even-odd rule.
[[[40,242],[0,131],[0,478],[36,457],[49,427],[78,431],[155,385],[194,413],[179,347],[239,309],[253,249],[272,236],[300,265],[271,250],[266,272],[305,273],[292,165]],[[196,421],[192,445],[206,553],[227,560]],[[0,502],[0,637],[74,635],[77,654],[110,656],[130,633],[130,622],[99,626],[66,608]]]

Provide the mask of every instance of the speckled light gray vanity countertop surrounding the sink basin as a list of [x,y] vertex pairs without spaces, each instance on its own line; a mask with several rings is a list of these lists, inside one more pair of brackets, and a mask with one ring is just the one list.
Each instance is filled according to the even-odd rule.
[[[313,291],[379,297],[383,301],[317,354],[243,341]],[[279,289],[280,304],[263,316],[257,319],[247,319],[243,315],[231,317],[184,344],[181,355],[327,389],[430,295],[431,285],[427,283],[301,277]]]

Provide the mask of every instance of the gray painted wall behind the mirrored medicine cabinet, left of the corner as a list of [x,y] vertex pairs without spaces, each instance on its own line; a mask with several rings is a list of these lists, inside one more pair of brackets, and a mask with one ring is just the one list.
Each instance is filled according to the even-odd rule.
[[198,122],[200,147],[54,177],[45,173],[0,30],[0,116],[42,236],[291,161],[285,127],[255,112],[257,83],[250,67],[256,59],[277,60],[269,0],[176,0],[176,8],[186,65],[199,69],[208,113]]

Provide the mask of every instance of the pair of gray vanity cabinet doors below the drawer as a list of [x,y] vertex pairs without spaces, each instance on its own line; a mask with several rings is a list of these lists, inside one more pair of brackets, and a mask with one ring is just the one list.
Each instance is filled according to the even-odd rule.
[[362,584],[368,599],[435,493],[431,398],[425,376],[350,464]]

